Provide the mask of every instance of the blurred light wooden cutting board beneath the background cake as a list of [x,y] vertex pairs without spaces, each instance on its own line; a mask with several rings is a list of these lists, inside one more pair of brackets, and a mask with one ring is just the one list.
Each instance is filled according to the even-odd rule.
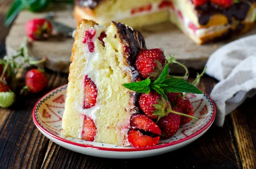
[[[76,28],[76,22],[72,15],[73,6],[71,5],[52,6],[49,7],[47,11],[41,13],[22,11],[15,20],[9,32],[9,36],[6,39],[7,54],[12,54],[13,51],[17,50],[23,37],[26,37],[24,28],[26,21],[36,17],[45,17],[49,11],[55,12],[56,21],[71,26],[74,29]],[[233,37],[229,41],[199,46],[171,23],[148,26],[139,30],[145,37],[148,49],[162,48],[166,55],[174,54],[177,60],[184,61],[188,68],[193,69],[203,69],[208,57],[216,49],[229,41],[256,33],[256,29],[253,29],[247,34]],[[33,41],[29,49],[34,57],[48,57],[49,63],[46,65],[48,69],[68,73],[73,42],[73,38]],[[183,72],[183,70],[177,67],[177,69],[172,70],[172,72],[180,73]]]

